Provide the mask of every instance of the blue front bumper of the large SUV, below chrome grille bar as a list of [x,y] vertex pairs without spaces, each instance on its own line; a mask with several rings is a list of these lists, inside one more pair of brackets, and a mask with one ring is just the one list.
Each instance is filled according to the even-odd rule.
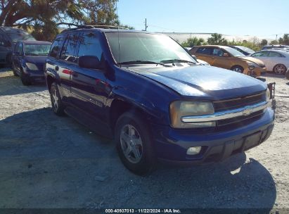
[[[246,151],[265,141],[274,127],[274,111],[266,108],[261,118],[249,125],[229,130],[176,130],[153,125],[154,148],[158,158],[195,164],[216,162]],[[192,146],[202,146],[198,155],[189,156]]]

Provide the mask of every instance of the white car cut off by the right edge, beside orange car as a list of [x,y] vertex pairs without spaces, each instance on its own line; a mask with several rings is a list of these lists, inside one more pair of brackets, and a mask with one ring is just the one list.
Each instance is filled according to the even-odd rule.
[[250,56],[263,61],[267,71],[274,71],[282,75],[289,68],[289,52],[277,49],[269,49],[252,53]]

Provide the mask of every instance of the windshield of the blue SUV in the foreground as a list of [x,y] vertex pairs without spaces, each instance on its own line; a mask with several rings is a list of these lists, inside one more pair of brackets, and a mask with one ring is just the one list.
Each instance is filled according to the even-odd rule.
[[[117,63],[188,61],[196,63],[173,39],[161,34],[138,32],[106,32],[110,49]],[[119,42],[120,41],[120,48]]]

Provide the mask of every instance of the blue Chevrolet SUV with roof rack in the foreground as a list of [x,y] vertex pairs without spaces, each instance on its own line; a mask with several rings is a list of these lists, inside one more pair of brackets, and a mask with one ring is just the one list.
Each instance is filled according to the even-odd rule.
[[114,137],[122,163],[139,175],[157,158],[224,160],[274,127],[264,82],[200,65],[162,34],[75,27],[58,34],[45,67],[53,111]]

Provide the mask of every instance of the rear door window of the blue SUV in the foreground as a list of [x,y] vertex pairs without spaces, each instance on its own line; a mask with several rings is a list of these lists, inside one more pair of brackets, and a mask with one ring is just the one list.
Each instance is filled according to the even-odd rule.
[[77,58],[75,57],[75,52],[77,49],[77,44],[79,40],[79,33],[70,34],[63,45],[63,49],[60,53],[60,58],[65,61],[70,61],[72,63],[77,63]]

